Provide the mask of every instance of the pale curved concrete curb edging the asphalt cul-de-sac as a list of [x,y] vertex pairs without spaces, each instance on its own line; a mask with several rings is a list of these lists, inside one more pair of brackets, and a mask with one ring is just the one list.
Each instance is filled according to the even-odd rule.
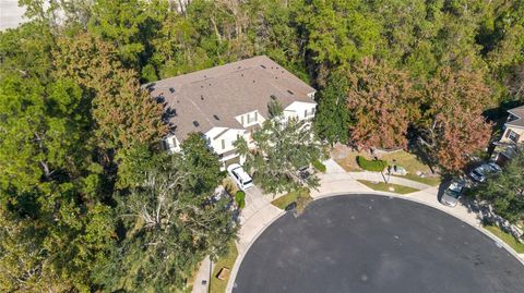
[[[453,218],[456,218],[456,219],[461,220],[462,222],[468,224],[469,227],[476,229],[477,231],[481,232],[483,234],[485,234],[486,236],[488,236],[489,239],[495,241],[497,243],[497,245],[503,247],[508,253],[510,253],[513,257],[515,257],[524,266],[524,259],[521,258],[521,256],[511,246],[505,244],[505,242],[503,242],[502,240],[500,240],[499,237],[493,235],[488,230],[484,229],[481,225],[472,224],[472,223],[461,219],[460,217],[457,217],[457,216],[455,216],[455,215],[453,215],[453,213],[451,213],[451,212],[449,212],[444,209],[439,208],[439,206],[437,206],[437,205],[431,205],[431,204],[425,203],[422,200],[419,200],[419,199],[416,199],[416,198],[413,198],[413,197],[408,197],[408,195],[400,195],[400,194],[386,193],[386,192],[366,192],[366,193],[362,193],[362,192],[340,192],[340,193],[322,194],[322,195],[319,195],[317,197],[313,197],[313,200],[327,198],[327,197],[334,197],[334,196],[357,195],[357,194],[358,195],[372,194],[372,195],[380,195],[380,196],[384,196],[384,197],[395,197],[395,198],[410,200],[410,202],[417,203],[419,205],[424,205],[424,206],[428,206],[428,207],[438,209],[438,210],[440,210],[440,211],[442,211],[442,212],[444,212],[444,213],[446,213],[446,215],[449,215]],[[246,257],[246,254],[248,253],[249,248],[253,245],[254,242],[257,242],[257,240],[265,231],[265,229],[267,229],[271,224],[273,224],[277,219],[279,219],[285,213],[286,213],[286,211],[282,211],[275,218],[273,218],[270,222],[264,224],[262,227],[262,229],[259,232],[257,232],[255,236],[251,240],[251,242],[248,244],[246,249],[237,257],[237,259],[235,260],[235,265],[233,266],[233,270],[231,270],[231,273],[229,276],[229,280],[227,282],[227,286],[226,286],[226,292],[227,293],[233,291],[233,286],[235,284],[235,279],[237,278],[238,270],[239,270],[240,265],[241,265],[243,258]]]

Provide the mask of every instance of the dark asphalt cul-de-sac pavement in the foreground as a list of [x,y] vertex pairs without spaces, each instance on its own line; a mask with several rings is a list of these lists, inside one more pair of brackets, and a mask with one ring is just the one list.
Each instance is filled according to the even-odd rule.
[[376,195],[313,202],[267,228],[233,292],[524,292],[524,266],[440,210]]

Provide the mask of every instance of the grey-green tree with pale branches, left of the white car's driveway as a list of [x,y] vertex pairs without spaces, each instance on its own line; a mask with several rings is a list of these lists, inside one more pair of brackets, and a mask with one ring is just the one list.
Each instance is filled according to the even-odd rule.
[[213,197],[224,174],[202,137],[195,134],[181,154],[145,172],[140,186],[117,196],[123,231],[95,273],[105,291],[178,291],[202,258],[224,253],[236,233],[230,198]]

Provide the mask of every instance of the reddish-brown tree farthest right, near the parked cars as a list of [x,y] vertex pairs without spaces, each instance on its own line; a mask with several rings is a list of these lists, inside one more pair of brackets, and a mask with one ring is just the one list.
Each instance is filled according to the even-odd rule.
[[490,89],[478,73],[442,69],[425,86],[420,142],[444,170],[460,171],[487,147],[491,124],[483,117]]

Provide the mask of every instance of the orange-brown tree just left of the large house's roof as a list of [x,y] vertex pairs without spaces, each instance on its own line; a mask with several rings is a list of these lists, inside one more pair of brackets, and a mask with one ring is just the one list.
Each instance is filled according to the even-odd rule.
[[[163,106],[140,87],[134,71],[122,68],[116,49],[91,34],[60,39],[53,57],[56,76],[71,78],[83,89],[83,110],[94,122],[87,143],[99,147],[99,162],[110,171],[107,178],[115,175],[112,163],[127,163],[122,170],[130,170],[133,157],[126,155],[146,150],[143,146],[152,146],[167,133]],[[130,172],[119,173],[117,187],[132,185],[132,178]]]

